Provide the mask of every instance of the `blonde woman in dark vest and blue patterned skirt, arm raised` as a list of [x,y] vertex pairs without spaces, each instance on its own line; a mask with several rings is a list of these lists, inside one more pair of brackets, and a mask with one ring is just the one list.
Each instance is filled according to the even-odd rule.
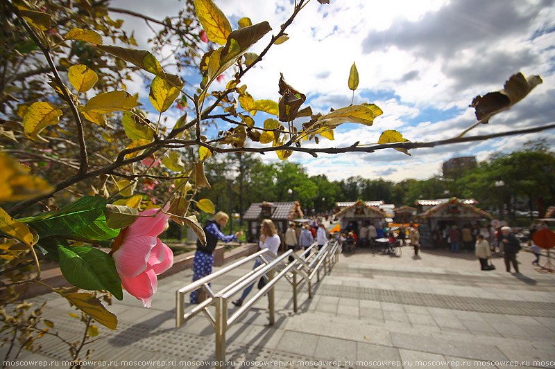
[[[206,244],[202,244],[200,240],[196,241],[196,252],[193,259],[193,282],[200,278],[207,276],[212,273],[212,266],[214,265],[214,249],[216,249],[216,244],[218,240],[221,242],[232,242],[237,241],[243,231],[239,231],[234,235],[224,235],[221,231],[225,224],[228,224],[230,219],[227,213],[219,211],[214,215],[212,219],[209,219],[204,226],[204,233],[206,235]],[[198,291],[192,291],[189,295],[189,300],[191,304],[199,303],[197,300]]]

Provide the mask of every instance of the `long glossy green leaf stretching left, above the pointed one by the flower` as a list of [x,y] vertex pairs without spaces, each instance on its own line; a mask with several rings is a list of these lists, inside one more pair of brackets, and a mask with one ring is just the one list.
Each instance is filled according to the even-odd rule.
[[103,197],[84,196],[60,210],[20,221],[33,227],[41,238],[52,235],[80,235],[80,231],[94,222],[105,207],[106,199]]

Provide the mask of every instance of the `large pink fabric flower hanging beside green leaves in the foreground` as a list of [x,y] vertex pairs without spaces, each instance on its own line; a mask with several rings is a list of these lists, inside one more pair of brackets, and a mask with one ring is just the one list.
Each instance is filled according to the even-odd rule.
[[[148,209],[140,215],[154,215],[159,209]],[[168,224],[169,215],[138,217],[135,223],[123,228],[112,245],[112,258],[121,284],[130,294],[151,307],[156,292],[157,274],[173,265],[173,253],[157,237]]]

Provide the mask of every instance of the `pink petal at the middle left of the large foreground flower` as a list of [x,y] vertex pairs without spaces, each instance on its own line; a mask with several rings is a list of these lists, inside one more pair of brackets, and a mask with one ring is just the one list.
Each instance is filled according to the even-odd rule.
[[126,237],[123,240],[119,249],[112,254],[121,278],[133,278],[146,270],[146,262],[156,246],[156,240],[156,237],[149,235]]

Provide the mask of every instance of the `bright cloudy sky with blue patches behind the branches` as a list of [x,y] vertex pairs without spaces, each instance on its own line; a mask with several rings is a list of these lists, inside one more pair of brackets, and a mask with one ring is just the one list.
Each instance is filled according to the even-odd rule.
[[[293,3],[284,0],[215,0],[233,28],[237,20],[268,21],[278,33],[289,18]],[[163,19],[176,13],[175,0],[116,0],[126,7]],[[144,22],[123,15],[137,39],[149,37]],[[275,45],[260,66],[241,81],[255,99],[279,99],[280,72],[293,87],[307,95],[307,105],[325,114],[350,105],[350,66],[356,62],[359,87],[355,104],[373,102],[384,111],[372,127],[343,124],[334,141],[320,146],[343,147],[376,143],[386,129],[396,129],[410,141],[452,138],[475,123],[468,107],[478,94],[502,89],[513,73],[538,74],[544,83],[513,109],[499,114],[470,135],[504,132],[553,123],[555,117],[555,0],[311,0],[287,28],[289,40]],[[260,52],[270,33],[253,47]],[[222,85],[230,80],[226,74]],[[196,83],[195,75],[183,75]],[[216,84],[215,89],[223,86]],[[148,89],[141,89],[148,102]],[[148,105],[145,102],[145,105]],[[169,111],[169,121],[179,111]],[[264,114],[257,114],[264,120]],[[301,122],[296,124],[300,125]],[[219,125],[219,129],[227,129]],[[302,163],[309,175],[325,174],[331,180],[361,175],[369,179],[401,181],[427,179],[441,173],[443,161],[456,156],[485,160],[502,150],[518,150],[524,143],[546,138],[555,143],[555,130],[411,150],[407,156],[393,149],[372,154],[309,154],[295,152],[290,161]],[[273,153],[265,161],[278,160]]]

